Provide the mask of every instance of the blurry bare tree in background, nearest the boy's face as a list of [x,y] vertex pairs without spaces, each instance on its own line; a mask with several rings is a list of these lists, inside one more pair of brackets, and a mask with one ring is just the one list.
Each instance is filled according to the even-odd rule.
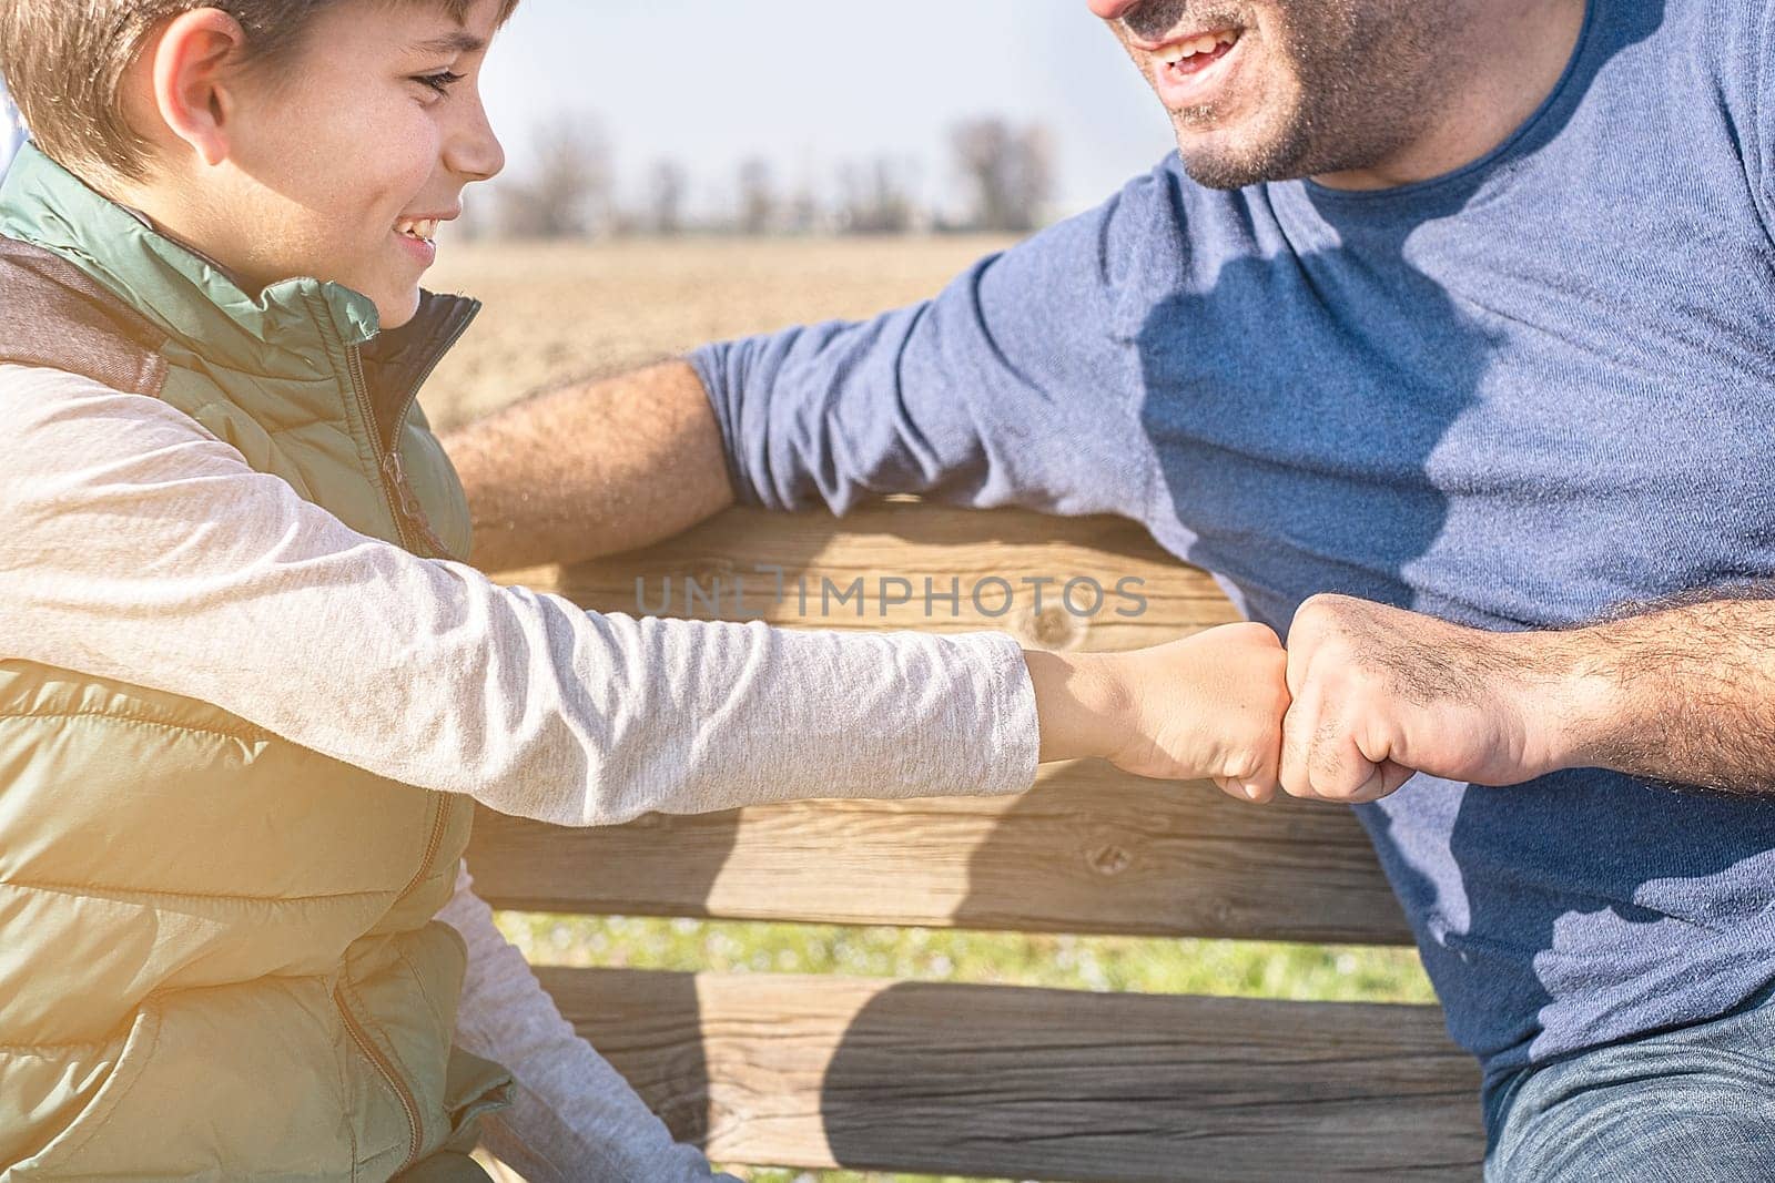
[[536,165],[501,188],[501,223],[513,238],[575,238],[607,229],[611,144],[596,119],[557,115],[534,135]]

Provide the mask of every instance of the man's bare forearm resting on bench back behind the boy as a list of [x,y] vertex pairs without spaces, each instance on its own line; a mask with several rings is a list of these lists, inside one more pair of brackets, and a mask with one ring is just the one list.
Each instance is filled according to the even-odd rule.
[[733,504],[696,371],[666,362],[525,399],[444,436],[485,571],[669,537]]

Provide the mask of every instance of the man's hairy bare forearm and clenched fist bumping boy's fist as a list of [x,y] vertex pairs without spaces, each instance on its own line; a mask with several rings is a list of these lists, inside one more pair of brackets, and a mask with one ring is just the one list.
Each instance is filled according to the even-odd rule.
[[1505,786],[1562,768],[1775,795],[1775,585],[1521,633],[1314,596],[1287,678],[1294,796],[1369,802],[1415,772]]

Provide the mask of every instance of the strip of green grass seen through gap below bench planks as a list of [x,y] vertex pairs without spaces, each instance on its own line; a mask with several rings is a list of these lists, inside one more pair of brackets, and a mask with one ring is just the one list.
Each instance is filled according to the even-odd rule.
[[[536,965],[845,974],[1326,1002],[1436,1000],[1416,952],[1409,949],[524,912],[499,913],[499,926]],[[731,1171],[753,1183],[964,1183],[856,1171]]]

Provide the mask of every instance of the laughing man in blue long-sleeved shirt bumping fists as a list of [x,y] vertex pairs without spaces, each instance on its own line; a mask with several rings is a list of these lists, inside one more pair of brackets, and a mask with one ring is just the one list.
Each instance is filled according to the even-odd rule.
[[1136,518],[1289,635],[1283,787],[1360,807],[1487,1174],[1775,1178],[1764,5],[1090,9],[1175,158],[934,302],[458,433],[476,559]]

